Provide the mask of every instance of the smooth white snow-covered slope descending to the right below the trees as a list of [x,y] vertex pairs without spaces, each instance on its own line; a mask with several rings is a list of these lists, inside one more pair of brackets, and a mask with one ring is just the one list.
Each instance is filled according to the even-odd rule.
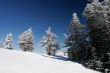
[[[59,57],[59,58],[58,58]],[[62,57],[61,57],[62,58]],[[82,65],[16,50],[0,48],[0,73],[99,73]]]

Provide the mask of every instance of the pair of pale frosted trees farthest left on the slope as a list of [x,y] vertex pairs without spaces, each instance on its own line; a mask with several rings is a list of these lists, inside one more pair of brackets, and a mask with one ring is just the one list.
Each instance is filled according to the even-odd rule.
[[[33,50],[33,32],[30,29],[24,31],[18,40],[18,44],[23,51]],[[5,41],[0,43],[1,48],[13,49],[13,35],[11,33],[7,34]]]

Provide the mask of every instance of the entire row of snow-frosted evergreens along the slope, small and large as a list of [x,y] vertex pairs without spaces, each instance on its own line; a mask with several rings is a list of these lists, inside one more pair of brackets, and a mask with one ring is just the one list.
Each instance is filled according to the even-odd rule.
[[[110,0],[90,0],[84,9],[86,25],[81,24],[77,13],[73,13],[72,21],[65,34],[65,47],[70,60],[101,72],[110,71]],[[55,55],[60,48],[56,34],[51,27],[42,37],[41,46],[48,55]],[[12,49],[13,36],[8,34],[5,43],[0,46]],[[28,29],[19,36],[19,46],[23,51],[33,50],[33,32]]]

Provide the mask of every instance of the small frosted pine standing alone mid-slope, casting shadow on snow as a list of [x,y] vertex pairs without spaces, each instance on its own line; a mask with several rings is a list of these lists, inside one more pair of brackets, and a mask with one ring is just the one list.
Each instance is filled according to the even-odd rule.
[[55,55],[56,51],[60,48],[56,41],[56,34],[51,31],[51,27],[46,31],[46,36],[43,36],[40,44],[46,48],[47,55]]

